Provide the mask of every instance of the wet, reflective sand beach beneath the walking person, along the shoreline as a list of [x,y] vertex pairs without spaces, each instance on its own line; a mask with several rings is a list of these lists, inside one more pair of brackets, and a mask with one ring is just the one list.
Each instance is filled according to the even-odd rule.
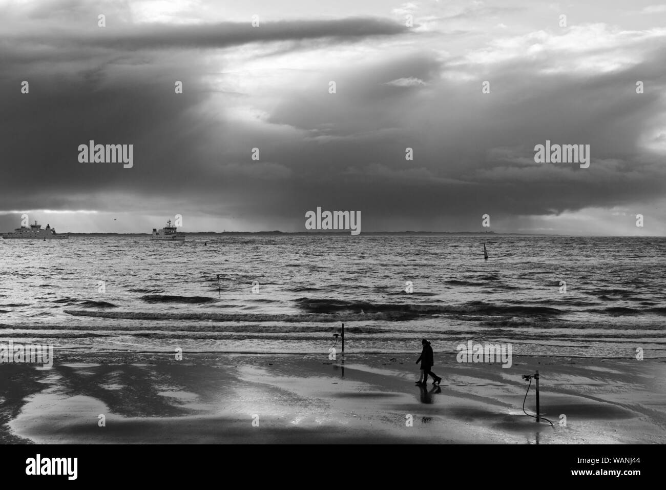
[[[0,442],[666,442],[663,360],[514,356],[503,369],[444,354],[433,368],[441,386],[426,389],[415,360],[60,352],[52,369],[0,365]],[[521,408],[521,375],[537,369],[554,427]],[[535,413],[533,384],[525,409]]]

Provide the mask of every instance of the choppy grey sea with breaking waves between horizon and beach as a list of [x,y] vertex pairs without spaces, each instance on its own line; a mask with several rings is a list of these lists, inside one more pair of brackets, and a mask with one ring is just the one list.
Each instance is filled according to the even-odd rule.
[[347,353],[427,337],[440,352],[473,339],[666,357],[666,238],[71,237],[1,240],[0,254],[0,341],[328,353],[344,321]]

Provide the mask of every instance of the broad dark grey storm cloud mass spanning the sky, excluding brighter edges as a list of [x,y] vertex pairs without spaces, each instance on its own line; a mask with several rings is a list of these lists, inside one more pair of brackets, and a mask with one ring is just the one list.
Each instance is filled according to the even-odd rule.
[[[666,109],[658,43],[636,43],[641,63],[583,72],[555,69],[582,59],[566,50],[474,63],[385,19],[77,32],[0,40],[0,209],[177,207],[280,228],[322,206],[362,211],[368,231],[478,229],[484,213],[513,222],[665,195],[663,152],[646,146],[646,135],[665,137],[655,133]],[[382,49],[387,39],[394,49]],[[337,58],[352,41],[358,51]],[[266,81],[225,71],[240,45],[246,60],[274,66]],[[325,69],[313,52],[330,56]],[[290,55],[304,60],[296,74],[275,61]],[[134,167],[79,163],[90,139],[135,145]],[[546,139],[589,144],[589,169],[534,163]]]

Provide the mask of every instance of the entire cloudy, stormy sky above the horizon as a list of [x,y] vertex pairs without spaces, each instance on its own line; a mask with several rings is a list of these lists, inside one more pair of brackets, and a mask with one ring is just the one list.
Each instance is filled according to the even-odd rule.
[[0,0],[0,231],[666,235],[665,109],[655,0]]

